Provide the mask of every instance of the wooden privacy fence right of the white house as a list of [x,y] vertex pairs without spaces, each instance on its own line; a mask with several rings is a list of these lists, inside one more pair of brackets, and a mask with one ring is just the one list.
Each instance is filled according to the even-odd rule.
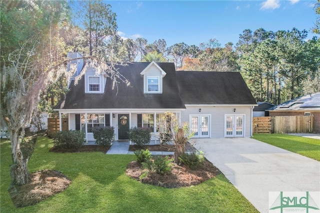
[[313,116],[253,117],[253,133],[312,132]]

